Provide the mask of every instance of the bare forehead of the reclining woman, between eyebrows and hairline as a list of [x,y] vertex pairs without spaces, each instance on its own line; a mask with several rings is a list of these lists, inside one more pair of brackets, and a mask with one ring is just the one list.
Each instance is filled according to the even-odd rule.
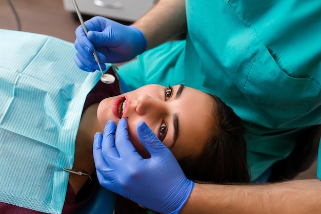
[[186,155],[197,156],[203,151],[209,136],[212,135],[211,132],[215,132],[215,103],[210,95],[191,88],[186,88],[180,99],[182,108],[177,113],[178,137],[172,152],[176,153],[176,158]]

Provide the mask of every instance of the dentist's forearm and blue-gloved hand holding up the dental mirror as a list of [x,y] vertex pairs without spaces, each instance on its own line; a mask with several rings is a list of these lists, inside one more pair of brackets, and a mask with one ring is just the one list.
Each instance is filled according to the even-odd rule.
[[103,70],[104,62],[118,63],[131,60],[170,38],[186,31],[184,0],[160,0],[149,12],[131,26],[104,17],[93,17],[76,29],[76,65],[85,71],[98,70],[94,49]]

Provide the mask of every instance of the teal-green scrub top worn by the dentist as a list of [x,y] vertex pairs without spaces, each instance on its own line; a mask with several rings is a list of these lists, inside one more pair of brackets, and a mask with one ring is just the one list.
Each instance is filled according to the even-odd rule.
[[244,120],[254,180],[321,124],[321,1],[187,0],[186,13],[185,40],[146,51],[119,76],[131,89],[184,83],[220,97]]

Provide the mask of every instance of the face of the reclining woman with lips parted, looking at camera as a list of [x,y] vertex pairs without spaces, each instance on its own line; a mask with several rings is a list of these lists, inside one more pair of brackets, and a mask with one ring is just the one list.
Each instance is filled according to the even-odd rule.
[[137,123],[145,121],[179,160],[186,156],[196,157],[202,152],[215,123],[214,104],[210,95],[184,85],[149,84],[104,99],[99,103],[97,118],[102,130],[109,120],[118,124],[119,119],[126,118],[132,144],[139,154],[148,157],[136,134]]

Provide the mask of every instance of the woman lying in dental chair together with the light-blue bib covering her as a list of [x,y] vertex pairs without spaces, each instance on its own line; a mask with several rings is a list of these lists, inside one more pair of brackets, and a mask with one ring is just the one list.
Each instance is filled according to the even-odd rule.
[[[117,123],[121,117],[127,119],[131,141],[143,157],[148,158],[148,153],[137,140],[135,133],[136,124],[141,120],[145,121],[158,138],[171,149],[189,179],[215,183],[249,181],[242,121],[231,108],[217,97],[184,85],[173,85],[172,87],[146,85],[121,95],[121,83],[118,81],[111,85],[99,81],[94,86],[95,83],[93,85],[92,83],[97,82],[97,78],[93,81],[89,74],[84,74],[85,72],[77,73],[76,76],[79,75],[79,77],[76,80],[72,79],[75,76],[74,72],[79,72],[75,69],[73,62],[71,63],[69,60],[70,56],[74,54],[72,44],[22,32],[0,31],[0,33],[3,37],[3,49],[1,50],[3,57],[0,59],[2,65],[0,68],[2,75],[0,131],[2,134],[17,134],[18,136],[14,136],[23,138],[21,142],[24,143],[16,143],[17,147],[22,147],[22,150],[17,152],[11,146],[18,142],[18,138],[12,140],[12,138],[0,135],[0,161],[2,163],[0,166],[2,167],[0,210],[3,213],[41,213],[40,211],[44,209],[38,207],[45,204],[43,201],[46,202],[47,198],[54,198],[52,196],[58,196],[58,198],[54,198],[55,200],[51,200],[53,206],[58,207],[56,210],[59,210],[59,203],[65,202],[63,213],[72,213],[81,207],[91,197],[97,180],[92,182],[88,176],[68,174],[63,170],[62,166],[67,165],[65,162],[70,162],[69,156],[63,156],[66,153],[64,146],[68,145],[72,148],[75,142],[72,169],[85,171],[94,178],[93,137],[96,132],[104,130],[107,121],[113,120]],[[25,52],[26,46],[29,47],[29,52]],[[14,51],[8,52],[13,47]],[[53,47],[54,50],[59,51],[54,53]],[[8,63],[15,58],[20,59],[18,63]],[[42,69],[46,69],[46,72],[38,72],[38,65],[41,65]],[[58,87],[59,82],[63,82],[65,79],[69,80],[69,78],[71,80],[65,83],[64,87]],[[91,80],[85,81],[85,78],[91,78]],[[31,84],[33,87],[30,87]],[[84,85],[87,85],[90,90],[82,94]],[[122,86],[124,87],[124,85]],[[77,91],[82,93],[73,96],[72,93]],[[73,100],[78,100],[76,99],[78,96],[84,97],[84,102],[83,99],[79,99],[78,103],[72,103]],[[21,100],[21,102],[14,105],[18,102],[17,100]],[[57,103],[58,106],[51,103]],[[33,104],[34,109],[30,110],[29,104]],[[62,108],[61,106],[65,104],[68,106],[77,105],[77,110],[73,112],[73,109]],[[52,108],[47,108],[49,106]],[[44,116],[47,119],[41,114],[42,112],[46,113]],[[81,115],[79,122],[77,122],[77,117],[71,117],[69,120],[67,117],[63,117],[74,114]],[[34,120],[38,121],[34,122]],[[70,120],[73,123],[70,123]],[[26,128],[28,124],[31,126]],[[60,124],[64,129],[57,133],[59,137],[50,135],[58,129]],[[75,136],[60,141],[61,137],[66,134],[60,135],[65,131],[65,124],[68,127],[74,126],[76,132],[72,135]],[[41,130],[39,139],[34,140],[33,130]],[[49,136],[50,143],[59,141],[63,144],[42,144],[42,139],[46,136]],[[25,147],[29,141],[34,145]],[[197,143],[195,144],[195,142]],[[38,146],[38,144],[40,145]],[[41,150],[38,151],[36,148]],[[54,153],[49,153],[49,149]],[[34,156],[38,159],[35,160]],[[61,157],[63,157],[62,160],[59,160]],[[48,161],[51,159],[53,161]],[[16,164],[16,161],[21,162]],[[45,161],[51,165],[47,165]],[[31,170],[28,166],[32,167],[33,165],[36,167]],[[4,173],[3,169],[5,168],[8,168],[8,172],[11,174]],[[34,171],[37,168],[41,170]],[[68,187],[61,185],[68,177]],[[22,183],[28,185],[21,185]],[[45,187],[48,187],[48,190],[54,189],[56,185],[67,187],[65,200],[62,199],[62,194],[65,194],[66,188],[58,188],[61,192],[53,192],[52,195],[42,191],[42,188]],[[30,188],[27,191],[20,191],[20,188],[25,186],[30,186]],[[16,190],[15,194],[23,196],[17,198],[14,194],[7,194],[12,191],[13,187]],[[30,192],[31,190],[33,191]],[[37,192],[41,192],[44,196]],[[3,197],[6,194],[14,195],[11,201]],[[39,211],[31,210],[29,201],[23,201],[34,195],[37,195],[38,198],[31,200],[35,202],[33,209]],[[42,203],[37,203],[39,201]],[[120,200],[118,201],[120,202]],[[57,212],[50,211],[52,209],[48,210],[46,212]],[[121,212],[122,210],[117,206],[116,211]]]

